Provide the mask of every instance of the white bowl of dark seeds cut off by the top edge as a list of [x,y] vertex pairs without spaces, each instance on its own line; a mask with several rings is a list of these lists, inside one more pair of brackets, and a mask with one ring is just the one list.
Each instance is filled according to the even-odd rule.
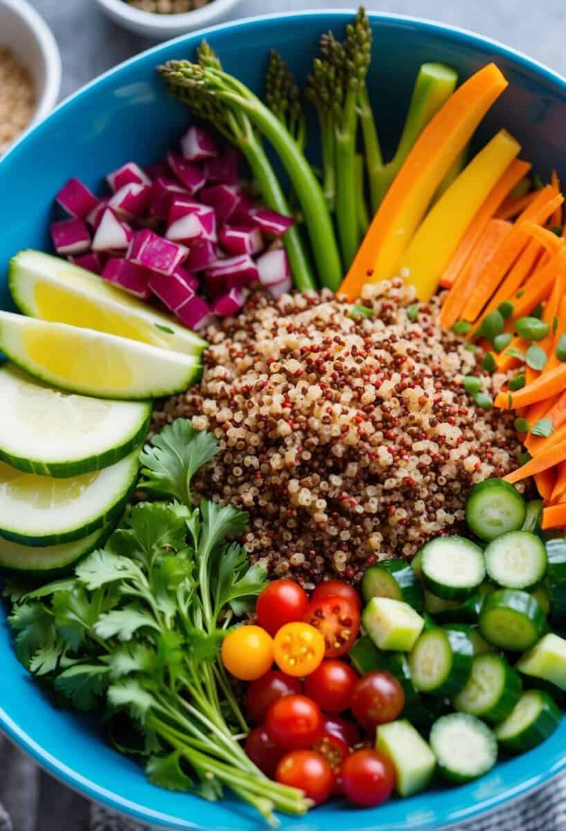
[[100,8],[113,20],[130,32],[158,40],[168,40],[185,32],[191,32],[218,22],[239,0],[209,0],[206,6],[183,14],[157,14],[143,12],[124,0],[96,0]]

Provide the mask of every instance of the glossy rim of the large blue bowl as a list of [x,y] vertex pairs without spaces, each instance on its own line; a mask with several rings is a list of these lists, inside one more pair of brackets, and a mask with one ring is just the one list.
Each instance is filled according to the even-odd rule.
[[[170,47],[176,43],[186,42],[188,39],[195,40],[198,37],[206,37],[208,34],[212,34],[214,32],[253,27],[256,24],[262,24],[273,20],[300,20],[304,17],[320,17],[321,15],[324,15],[325,17],[335,17],[337,20],[343,20],[344,15],[352,16],[354,14],[355,10],[351,7],[336,9],[305,9],[300,12],[276,12],[272,14],[243,17],[237,21],[217,23],[213,26],[198,29],[194,32],[187,32],[178,37],[171,38],[166,42],[160,42],[154,47],[149,47],[149,49],[139,52],[133,57],[127,58],[125,61],[111,67],[109,70],[95,77],[92,81],[89,81],[84,86],[81,86],[79,90],[73,92],[70,96],[67,96],[66,99],[61,101],[61,103],[56,106],[56,108],[52,110],[44,120],[36,125],[32,125],[28,130],[26,130],[17,142],[12,145],[10,150],[8,150],[7,153],[0,158],[0,174],[2,173],[2,166],[7,162],[7,160],[12,161],[14,157],[17,157],[18,152],[25,147],[27,140],[30,139],[32,134],[41,135],[41,133],[47,129],[47,126],[50,124],[51,120],[56,120],[60,113],[66,111],[66,108],[71,106],[73,101],[81,97],[86,91],[90,90],[91,87],[100,84],[110,78],[110,76],[113,76],[115,73],[122,71],[124,68],[134,65],[136,61],[142,61],[153,54],[157,54],[164,48]],[[377,20],[385,23],[386,25],[406,25],[418,27],[424,32],[430,34],[448,33],[454,38],[456,44],[461,42],[466,43],[471,47],[491,47],[494,52],[494,60],[496,60],[499,56],[515,61],[515,63],[521,68],[534,71],[540,77],[544,78],[544,80],[550,81],[561,87],[564,92],[564,96],[566,96],[566,77],[560,75],[559,72],[552,70],[541,61],[536,61],[534,58],[530,58],[528,55],[525,55],[524,52],[520,52],[513,47],[508,47],[505,43],[495,40],[495,38],[485,37],[478,32],[472,32],[469,29],[452,26],[447,23],[435,22],[426,17],[371,11],[368,11],[368,17],[370,20]],[[79,793],[85,794],[91,799],[95,799],[96,801],[105,804],[110,809],[118,811],[120,814],[133,817],[134,819],[154,824],[154,827],[159,825],[159,827],[195,829],[195,831],[202,831],[202,826],[199,824],[192,824],[186,820],[183,820],[183,825],[181,826],[178,824],[178,819],[176,817],[163,814],[161,811],[155,811],[147,806],[132,802],[129,799],[123,799],[120,797],[120,794],[101,788],[92,780],[76,773],[75,770],[71,770],[71,768],[62,764],[56,759],[56,757],[51,755],[51,753],[44,750],[31,735],[28,735],[26,732],[21,730],[1,706],[0,729],[7,735],[8,738],[19,745],[22,750],[25,750],[28,755],[32,756],[38,765],[41,765],[44,770],[55,776],[56,779],[59,779],[71,789],[75,789]],[[485,816],[485,814],[491,814],[502,804],[509,804],[516,799],[520,799],[521,796],[525,796],[526,794],[529,794],[539,788],[542,784],[548,784],[551,780],[555,779],[560,771],[564,770],[564,768],[566,768],[566,750],[564,751],[564,756],[549,770],[534,772],[520,784],[515,785],[515,787],[511,786],[510,789],[507,789],[503,793],[495,794],[487,799],[482,799],[481,802],[471,804],[464,809],[451,811],[446,816],[448,821],[442,824],[442,826],[434,825],[434,829],[435,831],[449,829],[477,816],[478,814],[482,814],[483,816]],[[396,827],[399,831],[402,828],[401,826]],[[418,827],[414,824],[411,824],[410,826],[404,825],[403,827],[406,829],[410,828],[412,831],[425,831],[425,829],[432,828],[432,826],[427,823],[424,825],[419,824]],[[217,831],[222,831],[222,829],[217,828]],[[360,826],[359,831],[364,831],[364,829]],[[365,831],[368,831],[368,829],[366,828]]]

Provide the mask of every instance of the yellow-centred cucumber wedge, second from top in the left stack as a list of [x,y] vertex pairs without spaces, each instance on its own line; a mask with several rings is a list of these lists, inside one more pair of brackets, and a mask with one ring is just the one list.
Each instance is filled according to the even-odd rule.
[[0,350],[39,381],[97,398],[173,395],[197,381],[202,369],[198,356],[2,311]]

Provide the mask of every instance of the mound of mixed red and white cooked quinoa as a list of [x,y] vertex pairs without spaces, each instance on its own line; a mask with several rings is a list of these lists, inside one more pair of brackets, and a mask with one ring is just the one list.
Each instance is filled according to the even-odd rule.
[[196,491],[248,511],[245,548],[271,576],[310,588],[411,558],[461,530],[471,484],[517,465],[513,416],[481,410],[462,385],[471,372],[486,392],[502,379],[437,327],[438,298],[413,321],[411,291],[365,287],[371,319],[328,291],[255,293],[208,329],[200,385],[155,413],[156,428],[186,416],[217,436]]

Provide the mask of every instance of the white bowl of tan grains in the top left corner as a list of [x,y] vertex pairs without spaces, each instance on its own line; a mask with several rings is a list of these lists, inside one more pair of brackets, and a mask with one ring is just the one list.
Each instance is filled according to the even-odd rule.
[[61,88],[61,55],[55,37],[26,0],[0,0],[0,47],[9,47],[32,73],[36,110],[27,129],[51,112]]

